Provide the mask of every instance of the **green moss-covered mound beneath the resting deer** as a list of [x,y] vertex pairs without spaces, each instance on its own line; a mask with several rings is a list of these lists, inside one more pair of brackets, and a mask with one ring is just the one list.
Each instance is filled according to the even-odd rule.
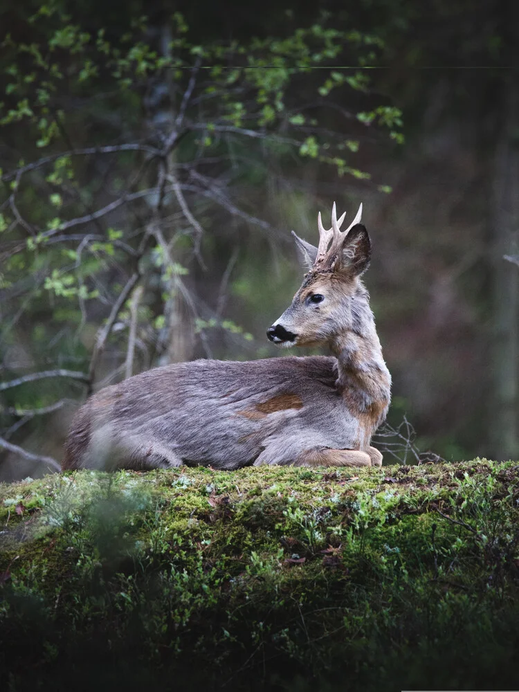
[[519,466],[0,486],[0,687],[519,689]]

